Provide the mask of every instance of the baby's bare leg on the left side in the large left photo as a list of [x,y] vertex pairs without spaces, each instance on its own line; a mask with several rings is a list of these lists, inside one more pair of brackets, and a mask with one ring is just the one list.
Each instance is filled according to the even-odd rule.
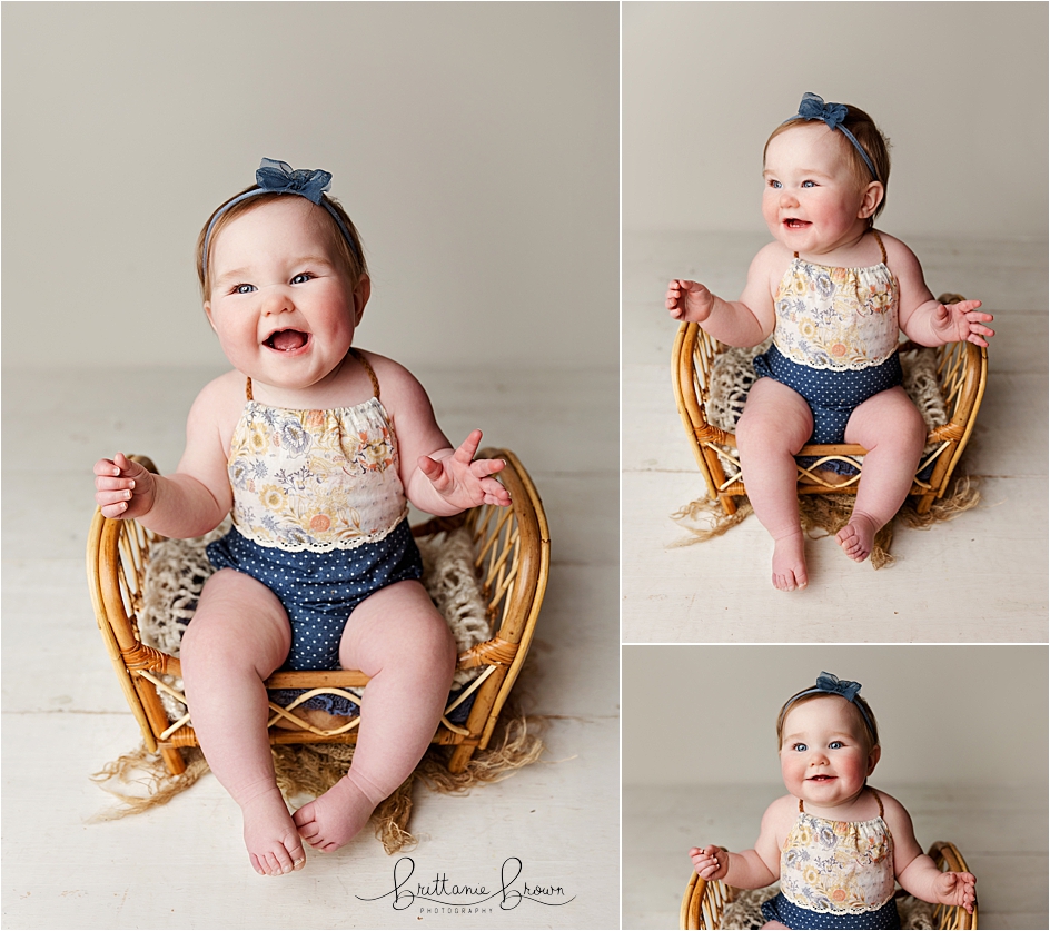
[[301,869],[306,852],[274,775],[264,680],[288,655],[291,632],[277,596],[225,568],[212,575],[182,637],[194,730],[216,778],[240,806],[256,872]]

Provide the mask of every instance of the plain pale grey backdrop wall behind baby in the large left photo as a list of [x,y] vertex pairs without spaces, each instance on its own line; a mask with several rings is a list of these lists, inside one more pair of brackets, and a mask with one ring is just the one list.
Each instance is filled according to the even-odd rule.
[[262,157],[333,172],[361,346],[613,365],[618,6],[6,3],[6,365],[225,365],[194,246]]

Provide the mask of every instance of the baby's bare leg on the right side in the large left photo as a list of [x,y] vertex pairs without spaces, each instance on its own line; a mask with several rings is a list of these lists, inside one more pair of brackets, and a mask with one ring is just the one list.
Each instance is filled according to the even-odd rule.
[[456,644],[424,587],[397,582],[354,608],[339,662],[370,677],[354,762],[295,813],[303,840],[325,852],[351,840],[423,759],[448,700]]

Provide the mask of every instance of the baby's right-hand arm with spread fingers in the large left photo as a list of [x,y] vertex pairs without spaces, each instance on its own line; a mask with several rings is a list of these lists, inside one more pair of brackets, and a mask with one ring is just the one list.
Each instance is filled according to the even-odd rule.
[[479,504],[506,507],[507,489],[493,476],[503,459],[474,459],[482,432],[472,430],[454,449],[434,417],[423,386],[403,366],[369,354],[394,419],[405,495],[420,511],[447,517]]

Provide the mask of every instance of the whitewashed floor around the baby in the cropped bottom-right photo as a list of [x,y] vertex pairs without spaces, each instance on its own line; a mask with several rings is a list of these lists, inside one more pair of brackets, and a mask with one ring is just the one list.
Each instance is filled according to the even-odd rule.
[[[923,850],[951,841],[978,878],[981,928],[1048,928],[1047,792],[879,782],[909,809]],[[677,928],[689,849],[754,845],[783,785],[624,786],[623,928]]]

